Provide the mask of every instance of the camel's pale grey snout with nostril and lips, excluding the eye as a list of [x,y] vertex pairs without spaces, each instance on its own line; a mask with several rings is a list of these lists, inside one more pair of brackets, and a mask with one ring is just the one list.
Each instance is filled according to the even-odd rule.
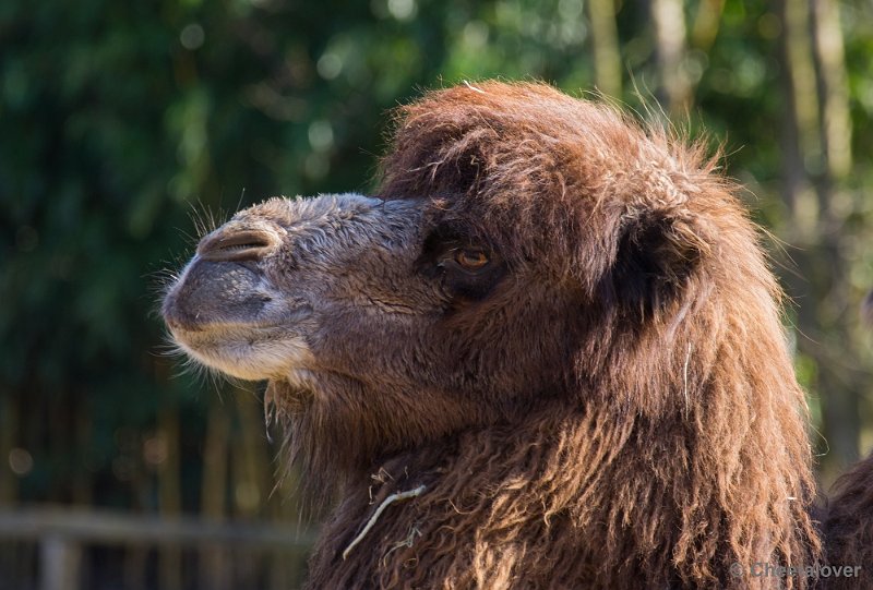
[[344,323],[344,308],[391,317],[435,304],[419,290],[417,308],[404,305],[412,286],[402,272],[382,289],[374,280],[380,258],[411,270],[418,218],[406,203],[350,194],[243,210],[201,240],[164,301],[167,325],[189,354],[229,375],[303,378],[318,364],[313,339],[326,317]]

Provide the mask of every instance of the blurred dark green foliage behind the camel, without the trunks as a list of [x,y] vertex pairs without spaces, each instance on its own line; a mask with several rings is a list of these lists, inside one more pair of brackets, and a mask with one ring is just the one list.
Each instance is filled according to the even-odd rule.
[[[683,4],[690,31],[703,4]],[[639,110],[659,85],[646,5],[625,1],[615,14],[617,98]],[[841,9],[856,161],[847,225],[828,231],[847,232],[849,294],[836,313],[849,317],[873,285],[863,198],[873,185],[873,9]],[[723,144],[756,216],[784,234],[782,23],[773,10],[727,0],[713,35],[689,35],[694,100],[679,127]],[[196,238],[192,218],[274,194],[366,191],[390,109],[421,88],[501,76],[586,93],[590,34],[583,0],[2,2],[0,450],[24,449],[32,466],[0,457],[0,502],[154,507],[142,445],[159,409],[174,406],[182,507],[198,510],[215,387],[175,376],[155,313],[162,270],[179,267]],[[818,362],[799,363],[816,399],[826,396],[815,390]],[[847,387],[869,411],[868,370],[851,371],[863,378]]]

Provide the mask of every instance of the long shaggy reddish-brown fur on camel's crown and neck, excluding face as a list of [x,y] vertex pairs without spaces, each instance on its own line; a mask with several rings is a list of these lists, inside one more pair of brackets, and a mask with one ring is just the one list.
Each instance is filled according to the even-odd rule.
[[[732,563],[811,563],[803,394],[732,188],[699,150],[609,108],[545,86],[481,89],[404,109],[379,193],[441,197],[504,255],[578,285],[573,371],[558,396],[570,407],[528,417],[522,436],[470,434],[446,466],[399,465],[446,475],[373,534],[384,555],[410,523],[433,527],[382,571],[427,556],[419,576],[449,562],[432,579],[468,571],[494,587],[539,568],[543,587],[729,587]],[[524,356],[528,342],[516,342]],[[440,530],[467,551],[440,551]]]

